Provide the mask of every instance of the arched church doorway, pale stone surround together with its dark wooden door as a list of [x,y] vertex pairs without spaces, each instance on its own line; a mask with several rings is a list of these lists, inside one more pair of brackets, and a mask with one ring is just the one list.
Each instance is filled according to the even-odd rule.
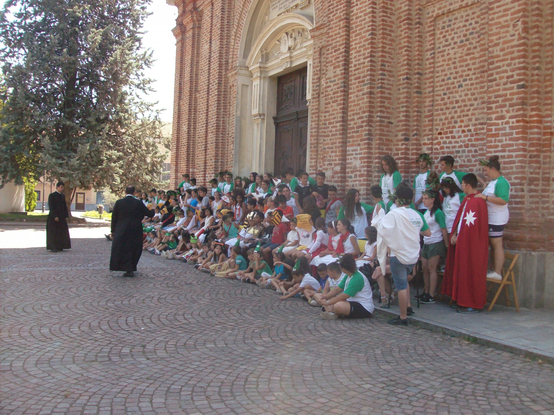
[[[309,1],[290,9],[259,0],[250,6],[240,44],[234,173],[306,169],[309,157],[314,11]],[[284,149],[288,152],[284,152]]]

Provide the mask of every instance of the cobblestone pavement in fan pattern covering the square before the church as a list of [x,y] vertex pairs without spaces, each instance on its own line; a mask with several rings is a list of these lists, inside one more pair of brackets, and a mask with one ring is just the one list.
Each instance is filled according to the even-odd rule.
[[[553,367],[399,328],[324,321],[270,290],[143,255],[104,229],[0,231],[2,414],[553,414]],[[27,246],[30,246],[27,248]]]

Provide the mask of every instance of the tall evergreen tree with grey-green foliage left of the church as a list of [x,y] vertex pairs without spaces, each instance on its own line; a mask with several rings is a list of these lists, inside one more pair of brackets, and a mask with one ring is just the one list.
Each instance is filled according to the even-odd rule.
[[143,69],[150,0],[8,0],[0,14],[0,185],[44,171],[76,188],[155,185],[165,156]]

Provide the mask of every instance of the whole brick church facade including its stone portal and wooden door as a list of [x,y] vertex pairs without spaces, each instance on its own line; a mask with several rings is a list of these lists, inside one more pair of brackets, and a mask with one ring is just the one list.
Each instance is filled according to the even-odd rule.
[[368,189],[396,158],[512,186],[522,305],[554,307],[554,2],[167,0],[178,8],[172,184],[219,170],[323,171]]

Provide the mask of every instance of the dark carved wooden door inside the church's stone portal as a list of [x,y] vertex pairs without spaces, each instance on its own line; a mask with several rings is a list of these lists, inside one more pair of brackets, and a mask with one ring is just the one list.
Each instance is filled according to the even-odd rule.
[[306,101],[307,68],[277,79],[277,115],[275,122],[274,174],[283,168],[306,169],[308,107]]

